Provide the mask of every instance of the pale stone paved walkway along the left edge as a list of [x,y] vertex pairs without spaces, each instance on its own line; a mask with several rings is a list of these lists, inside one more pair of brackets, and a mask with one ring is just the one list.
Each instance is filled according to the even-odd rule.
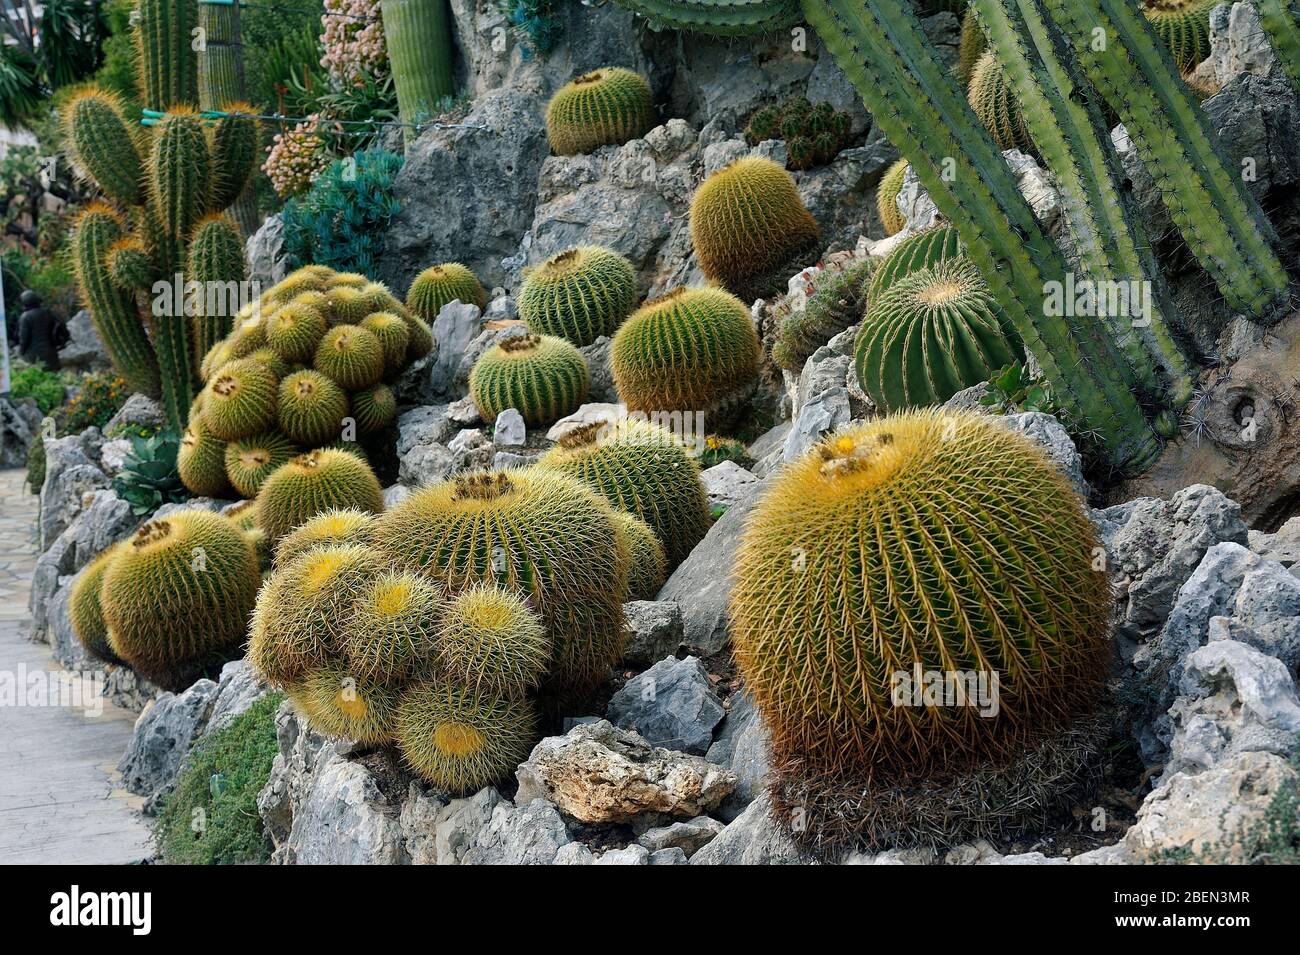
[[[0,864],[134,861],[150,855],[150,830],[116,767],[135,715],[27,639],[36,496],[25,477],[0,470]],[[34,685],[60,704],[16,706],[40,702]]]

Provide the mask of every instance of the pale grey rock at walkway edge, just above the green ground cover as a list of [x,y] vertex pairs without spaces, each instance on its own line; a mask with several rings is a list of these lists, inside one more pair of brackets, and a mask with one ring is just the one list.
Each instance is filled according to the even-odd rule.
[[160,694],[135,721],[117,770],[127,791],[146,796],[147,808],[176,785],[181,760],[203,735],[216,698],[217,685],[200,680],[185,693]]

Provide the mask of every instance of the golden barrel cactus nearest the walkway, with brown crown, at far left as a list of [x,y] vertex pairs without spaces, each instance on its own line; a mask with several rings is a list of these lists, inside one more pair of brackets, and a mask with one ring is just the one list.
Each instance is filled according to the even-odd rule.
[[112,650],[159,686],[185,689],[243,644],[259,582],[252,544],[221,515],[151,521],[104,577]]

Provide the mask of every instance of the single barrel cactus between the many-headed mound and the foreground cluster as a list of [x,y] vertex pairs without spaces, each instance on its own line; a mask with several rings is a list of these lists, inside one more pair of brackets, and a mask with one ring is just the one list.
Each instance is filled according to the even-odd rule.
[[378,513],[384,490],[374,472],[347,451],[316,450],[281,465],[257,492],[257,525],[280,543],[298,525],[332,508]]

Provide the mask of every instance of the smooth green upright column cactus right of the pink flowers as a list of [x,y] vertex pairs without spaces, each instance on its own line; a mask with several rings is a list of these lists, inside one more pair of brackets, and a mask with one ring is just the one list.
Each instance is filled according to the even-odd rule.
[[[446,0],[384,0],[384,39],[403,122],[430,120],[455,96]],[[416,130],[406,130],[407,142]]]

